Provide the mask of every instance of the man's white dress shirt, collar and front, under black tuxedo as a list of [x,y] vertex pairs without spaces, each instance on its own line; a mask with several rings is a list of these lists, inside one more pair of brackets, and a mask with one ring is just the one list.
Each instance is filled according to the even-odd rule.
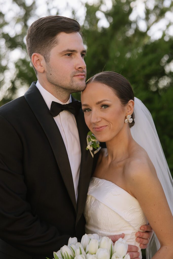
[[[72,102],[71,95],[70,95],[70,98],[68,99],[68,101],[66,103],[62,103],[60,100],[54,97],[50,92],[45,90],[38,81],[36,83],[36,87],[38,88],[41,95],[43,96],[43,99],[45,100],[45,103],[47,104],[47,107],[49,108],[49,110],[51,108],[52,101],[61,103],[61,104],[67,104]],[[72,176],[73,176],[76,201],[77,201],[81,149],[80,149],[79,133],[78,133],[76,119],[71,112],[64,110],[60,112],[56,117],[54,117],[54,120],[59,128],[59,131],[61,133],[61,136],[63,138],[64,144],[67,150],[68,159],[70,162]]]

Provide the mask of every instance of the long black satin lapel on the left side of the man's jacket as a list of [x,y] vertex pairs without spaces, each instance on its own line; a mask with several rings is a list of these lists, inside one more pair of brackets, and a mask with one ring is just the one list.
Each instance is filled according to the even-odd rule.
[[64,141],[57,127],[57,124],[50,114],[49,109],[35,83],[31,84],[30,88],[27,90],[24,96],[50,142],[68,194],[71,198],[75,211],[77,212],[70,162],[68,160]]

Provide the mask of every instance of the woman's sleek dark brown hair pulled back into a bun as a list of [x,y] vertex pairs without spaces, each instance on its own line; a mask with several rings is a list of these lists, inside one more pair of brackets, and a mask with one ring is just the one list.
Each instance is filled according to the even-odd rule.
[[[106,84],[107,86],[112,88],[116,96],[120,99],[123,106],[125,106],[129,100],[134,100],[134,92],[132,86],[125,77],[118,73],[115,73],[113,71],[101,72],[89,78],[86,82],[86,85],[91,82]],[[132,127],[135,123],[133,113],[132,119],[132,123],[129,123],[130,127]]]

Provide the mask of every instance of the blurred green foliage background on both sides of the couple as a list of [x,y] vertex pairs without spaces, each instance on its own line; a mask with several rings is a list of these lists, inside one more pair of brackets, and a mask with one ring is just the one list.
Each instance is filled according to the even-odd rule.
[[[166,30],[162,38],[155,41],[152,41],[147,34],[152,25],[151,16],[155,17],[155,23],[161,20],[166,12],[172,12],[173,2],[171,1],[169,7],[165,7],[164,1],[156,0],[152,10],[146,5],[144,20],[147,30],[145,32],[139,29],[138,18],[135,21],[129,19],[132,2],[131,0],[112,0],[112,9],[102,11],[110,24],[108,28],[98,27],[99,18],[96,15],[96,12],[101,10],[104,1],[98,1],[96,5],[85,4],[86,16],[82,33],[84,43],[87,45],[85,59],[87,78],[100,71],[112,70],[130,81],[135,96],[142,100],[153,116],[165,157],[173,174],[173,69],[166,69],[173,60],[173,38],[166,35]],[[22,25],[22,30],[13,36],[4,32],[4,27],[9,22],[4,19],[5,13],[0,12],[0,36],[1,43],[3,43],[0,52],[2,60],[0,93],[3,98],[0,105],[14,99],[19,88],[29,87],[32,81],[36,81],[24,43],[28,20],[32,16],[34,20],[39,18],[34,13],[36,2],[33,1],[30,6],[26,5],[24,0],[13,0],[12,3],[20,9],[18,15],[13,18],[13,24],[14,26]],[[49,11],[48,5],[48,14]],[[74,10],[73,17],[78,19]],[[14,63],[13,75],[7,80],[5,75],[8,75],[10,70],[8,53],[16,48],[25,54]],[[79,93],[74,96],[80,98]]]

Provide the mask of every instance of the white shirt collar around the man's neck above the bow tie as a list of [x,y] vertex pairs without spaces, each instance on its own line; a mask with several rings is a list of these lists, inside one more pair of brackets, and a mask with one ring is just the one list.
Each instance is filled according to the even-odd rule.
[[38,88],[38,90],[40,91],[41,95],[43,96],[43,99],[44,99],[45,103],[47,104],[47,107],[49,108],[49,110],[51,109],[52,101],[60,103],[60,104],[67,104],[67,103],[71,103],[72,102],[71,95],[70,95],[70,97],[69,97],[69,99],[67,100],[66,103],[61,102],[55,96],[53,96],[50,92],[48,92],[46,89],[44,89],[41,86],[41,84],[39,83],[39,81],[37,81],[36,87]]

